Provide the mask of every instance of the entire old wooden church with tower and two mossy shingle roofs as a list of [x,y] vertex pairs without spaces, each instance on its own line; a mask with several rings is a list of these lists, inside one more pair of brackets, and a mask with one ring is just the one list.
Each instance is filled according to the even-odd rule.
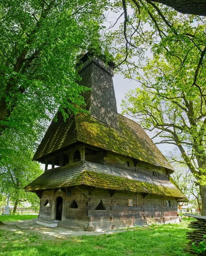
[[[187,201],[171,165],[136,122],[117,113],[113,64],[87,53],[79,70],[90,114],[52,121],[34,160],[45,172],[25,187],[40,198],[38,218],[106,230],[178,221]],[[52,169],[47,169],[52,165]]]

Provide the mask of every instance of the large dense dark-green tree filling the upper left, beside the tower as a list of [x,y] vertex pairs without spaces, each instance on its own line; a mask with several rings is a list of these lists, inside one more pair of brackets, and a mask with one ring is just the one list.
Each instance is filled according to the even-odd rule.
[[0,135],[32,134],[57,108],[64,117],[78,111],[86,89],[76,83],[76,57],[95,38],[104,9],[105,0],[0,2]]

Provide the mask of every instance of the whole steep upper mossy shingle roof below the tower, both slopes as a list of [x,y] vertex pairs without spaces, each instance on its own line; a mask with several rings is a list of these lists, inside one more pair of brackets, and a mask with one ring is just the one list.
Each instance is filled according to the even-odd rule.
[[120,114],[118,120],[119,128],[113,128],[89,114],[71,115],[66,122],[58,114],[58,122],[52,121],[34,160],[44,162],[46,155],[81,142],[173,170],[140,125]]

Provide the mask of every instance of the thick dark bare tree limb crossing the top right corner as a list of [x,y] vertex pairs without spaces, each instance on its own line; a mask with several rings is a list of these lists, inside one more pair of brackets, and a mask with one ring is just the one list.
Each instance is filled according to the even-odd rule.
[[[146,0],[149,2],[148,0]],[[205,0],[151,0],[174,8],[177,12],[206,16]]]

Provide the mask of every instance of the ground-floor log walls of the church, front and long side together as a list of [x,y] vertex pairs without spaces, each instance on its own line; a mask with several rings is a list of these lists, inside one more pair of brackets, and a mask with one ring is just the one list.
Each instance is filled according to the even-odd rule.
[[[164,197],[162,206],[162,196],[160,195],[110,191],[89,186],[72,187],[70,196],[67,196],[67,189],[44,191],[41,197],[40,218],[55,219],[55,205],[58,196],[63,198],[62,221],[68,225],[84,226],[87,224],[87,226],[92,226],[91,230],[96,230],[98,227],[108,229],[111,226],[127,227],[134,224],[149,224],[151,218],[159,223],[177,219],[175,198]],[[133,206],[128,206],[128,199],[133,200]],[[49,207],[44,206],[46,200],[49,202]],[[70,208],[73,200],[78,205],[76,209]],[[105,207],[104,210],[96,209],[101,201]],[[170,207],[168,207],[167,201],[170,201]]]

